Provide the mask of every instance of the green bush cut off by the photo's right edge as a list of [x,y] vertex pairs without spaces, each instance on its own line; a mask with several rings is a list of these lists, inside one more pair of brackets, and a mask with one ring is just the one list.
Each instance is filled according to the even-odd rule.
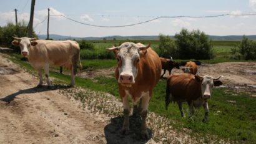
[[256,42],[243,37],[239,44],[240,54],[244,56],[245,60],[256,59]]

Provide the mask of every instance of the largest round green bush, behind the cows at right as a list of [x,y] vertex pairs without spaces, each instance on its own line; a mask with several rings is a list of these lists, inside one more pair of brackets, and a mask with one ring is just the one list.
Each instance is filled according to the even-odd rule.
[[212,59],[211,41],[204,32],[187,31],[182,29],[179,34],[175,34],[176,44],[180,59]]

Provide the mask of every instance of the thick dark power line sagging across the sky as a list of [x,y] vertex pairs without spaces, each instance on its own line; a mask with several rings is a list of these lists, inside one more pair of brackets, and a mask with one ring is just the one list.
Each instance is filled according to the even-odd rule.
[[76,20],[71,19],[70,17],[64,16],[62,14],[60,14],[60,15],[51,15],[51,16],[61,16],[61,17],[64,17],[66,19],[69,19],[70,21],[74,21],[74,22],[77,22],[79,24],[84,24],[86,26],[114,28],[114,27],[136,26],[136,25],[139,25],[139,24],[144,24],[144,23],[147,23],[147,22],[150,22],[150,21],[161,19],[161,18],[210,18],[210,17],[223,17],[223,16],[256,16],[256,13],[247,13],[247,14],[219,14],[219,15],[214,15],[214,16],[159,16],[159,17],[155,17],[154,19],[149,19],[147,21],[137,22],[135,24],[127,24],[127,25],[122,25],[122,26],[100,26],[100,25],[88,24],[88,23],[85,23],[85,22],[76,21]]

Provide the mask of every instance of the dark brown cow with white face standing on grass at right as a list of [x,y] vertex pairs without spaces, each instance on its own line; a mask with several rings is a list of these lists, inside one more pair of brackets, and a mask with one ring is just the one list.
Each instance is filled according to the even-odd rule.
[[204,77],[189,73],[171,75],[167,79],[165,108],[167,110],[170,102],[177,102],[180,114],[184,117],[182,102],[189,104],[190,116],[194,113],[194,107],[204,107],[205,115],[203,122],[208,120],[208,103],[207,100],[211,97],[211,90],[214,86],[222,85],[219,80],[221,76],[214,78],[210,75]]

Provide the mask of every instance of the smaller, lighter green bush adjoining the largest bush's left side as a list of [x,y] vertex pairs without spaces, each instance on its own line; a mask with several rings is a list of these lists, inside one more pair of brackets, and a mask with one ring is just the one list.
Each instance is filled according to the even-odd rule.
[[160,57],[177,57],[177,47],[174,40],[169,36],[159,35],[159,49],[157,50]]

